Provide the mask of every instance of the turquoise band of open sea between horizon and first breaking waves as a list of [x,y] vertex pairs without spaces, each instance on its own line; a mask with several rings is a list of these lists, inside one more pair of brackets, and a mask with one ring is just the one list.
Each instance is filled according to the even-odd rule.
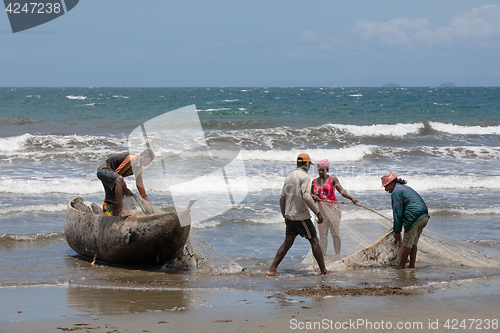
[[207,129],[429,121],[498,125],[499,93],[491,87],[0,88],[0,126],[2,137],[44,128],[62,134],[125,133],[190,104],[202,111]]

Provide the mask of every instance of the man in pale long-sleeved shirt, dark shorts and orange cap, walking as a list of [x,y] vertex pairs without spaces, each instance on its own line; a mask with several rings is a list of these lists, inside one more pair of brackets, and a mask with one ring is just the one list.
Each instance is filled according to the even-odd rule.
[[332,273],[326,269],[323,253],[321,252],[319,240],[316,236],[316,229],[307,209],[309,207],[314,212],[318,218],[318,223],[323,223],[323,216],[321,216],[318,207],[314,204],[314,200],[309,193],[311,180],[307,172],[311,164],[314,163],[311,162],[308,154],[300,154],[297,157],[297,169],[293,170],[285,179],[280,197],[281,214],[286,223],[285,241],[278,249],[276,257],[266,275],[280,275],[276,271],[278,265],[292,247],[297,235],[307,238],[309,243],[311,243],[312,253],[318,262],[321,274],[327,275]]

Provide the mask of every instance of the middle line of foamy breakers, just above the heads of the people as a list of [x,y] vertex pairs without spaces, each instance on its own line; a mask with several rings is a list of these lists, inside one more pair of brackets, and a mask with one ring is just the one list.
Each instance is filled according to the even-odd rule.
[[[377,142],[377,145],[351,142],[342,145],[335,144],[336,147],[327,147],[323,143],[315,144],[314,139],[311,139],[306,133],[295,133],[297,131],[305,130],[274,128],[243,130],[234,133],[232,131],[218,131],[220,133],[216,136],[213,132],[209,135],[209,144],[211,141],[218,141],[222,143],[222,147],[225,144],[233,148],[239,147],[242,150],[240,158],[249,161],[289,162],[293,161],[297,154],[304,151],[307,151],[313,160],[327,158],[334,162],[362,161],[365,158],[398,158],[418,154],[451,159],[500,158],[500,146],[440,146],[439,142],[436,142],[436,146],[412,147],[394,147],[388,142]],[[321,140],[324,141],[324,134],[317,133],[316,135],[318,140],[321,136]],[[194,157],[196,157],[196,151],[192,149],[206,147],[206,143],[200,141],[202,139],[184,138],[180,133],[174,133],[166,138],[151,135],[150,138],[156,140],[154,148],[157,156],[163,157],[172,154],[191,155],[191,157],[195,154]],[[294,143],[294,141],[296,142]],[[0,159],[4,160],[83,159],[97,161],[127,149],[127,138],[117,136],[33,135],[25,133],[19,136],[0,138]],[[201,154],[206,155],[206,150],[201,150]]]

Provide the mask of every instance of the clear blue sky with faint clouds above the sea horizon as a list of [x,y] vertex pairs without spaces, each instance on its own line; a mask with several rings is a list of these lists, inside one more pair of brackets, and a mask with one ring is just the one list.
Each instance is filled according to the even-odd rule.
[[3,87],[500,86],[500,1],[81,0],[12,33]]

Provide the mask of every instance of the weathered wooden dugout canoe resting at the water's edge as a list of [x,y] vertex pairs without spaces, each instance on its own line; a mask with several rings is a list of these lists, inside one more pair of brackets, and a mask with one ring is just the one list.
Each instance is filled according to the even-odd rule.
[[[188,209],[129,216],[95,214],[76,197],[68,204],[64,234],[81,256],[118,265],[159,266],[174,259],[189,236]],[[182,226],[181,226],[182,224]]]

